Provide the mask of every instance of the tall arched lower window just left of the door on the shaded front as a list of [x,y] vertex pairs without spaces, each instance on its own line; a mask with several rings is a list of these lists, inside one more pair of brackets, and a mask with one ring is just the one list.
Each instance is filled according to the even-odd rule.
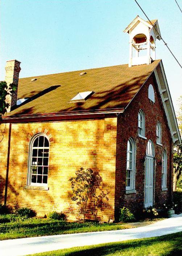
[[126,189],[135,189],[135,143],[132,138],[127,143],[127,173],[126,173]]

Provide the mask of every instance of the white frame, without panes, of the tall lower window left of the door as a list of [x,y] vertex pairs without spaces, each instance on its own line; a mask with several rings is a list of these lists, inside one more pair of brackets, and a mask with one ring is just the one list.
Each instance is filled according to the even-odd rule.
[[[128,149],[128,143],[132,145],[132,151]],[[130,154],[132,158],[130,160]],[[128,157],[129,156],[129,157]],[[135,141],[132,138],[128,139],[127,142],[127,166],[126,166],[126,190],[135,190],[135,162],[136,162],[136,147]],[[128,162],[131,162],[131,168],[128,168]],[[130,172],[130,178],[127,177],[127,174]],[[130,186],[127,186],[127,180],[130,179]]]

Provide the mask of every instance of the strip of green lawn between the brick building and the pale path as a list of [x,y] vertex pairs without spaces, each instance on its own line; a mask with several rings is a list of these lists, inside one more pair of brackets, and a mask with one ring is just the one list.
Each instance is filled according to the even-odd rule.
[[99,224],[95,222],[80,223],[66,222],[61,220],[30,218],[24,221],[20,220],[8,223],[0,223],[0,240],[26,238],[33,236],[120,230],[124,228],[145,226],[153,222],[154,221],[145,221],[139,223]]

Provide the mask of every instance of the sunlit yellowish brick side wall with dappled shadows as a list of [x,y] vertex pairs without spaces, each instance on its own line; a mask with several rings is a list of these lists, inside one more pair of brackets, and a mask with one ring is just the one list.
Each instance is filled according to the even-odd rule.
[[[104,188],[110,191],[107,206],[98,216],[101,220],[114,218],[116,118],[53,123],[12,124],[7,204],[31,207],[38,215],[64,211],[70,219],[79,219],[79,207],[71,201],[69,178],[80,167],[98,171]],[[49,155],[49,190],[25,189],[27,185],[29,133],[47,129],[53,141]],[[4,140],[4,148],[7,138]],[[0,149],[1,154],[3,148]],[[4,158],[6,158],[6,154]],[[1,166],[5,170],[6,160]],[[2,173],[5,177],[5,172]],[[92,218],[88,212],[88,218]]]

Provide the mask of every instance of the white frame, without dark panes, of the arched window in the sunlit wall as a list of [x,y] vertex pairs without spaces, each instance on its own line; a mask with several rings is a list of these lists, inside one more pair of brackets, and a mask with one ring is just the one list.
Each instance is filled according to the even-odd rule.
[[[32,182],[32,153],[33,153],[33,149],[49,149],[50,151],[50,141],[49,141],[49,147],[33,147],[34,141],[40,137],[40,136],[44,136],[48,141],[49,138],[44,134],[44,133],[38,133],[36,134],[32,140],[30,141],[30,145],[29,145],[29,162],[28,162],[28,182],[27,185],[28,186],[38,186],[38,187],[47,187],[48,186],[48,174],[49,174],[49,157],[48,157],[48,164],[45,166],[48,168],[47,170],[47,174],[45,176],[47,176],[47,183],[38,183],[38,182]],[[50,152],[49,152],[50,153]],[[42,157],[44,158],[44,157]],[[43,159],[42,159],[43,161]],[[44,167],[44,165],[42,165]],[[44,176],[44,174],[42,174],[42,176]]]

